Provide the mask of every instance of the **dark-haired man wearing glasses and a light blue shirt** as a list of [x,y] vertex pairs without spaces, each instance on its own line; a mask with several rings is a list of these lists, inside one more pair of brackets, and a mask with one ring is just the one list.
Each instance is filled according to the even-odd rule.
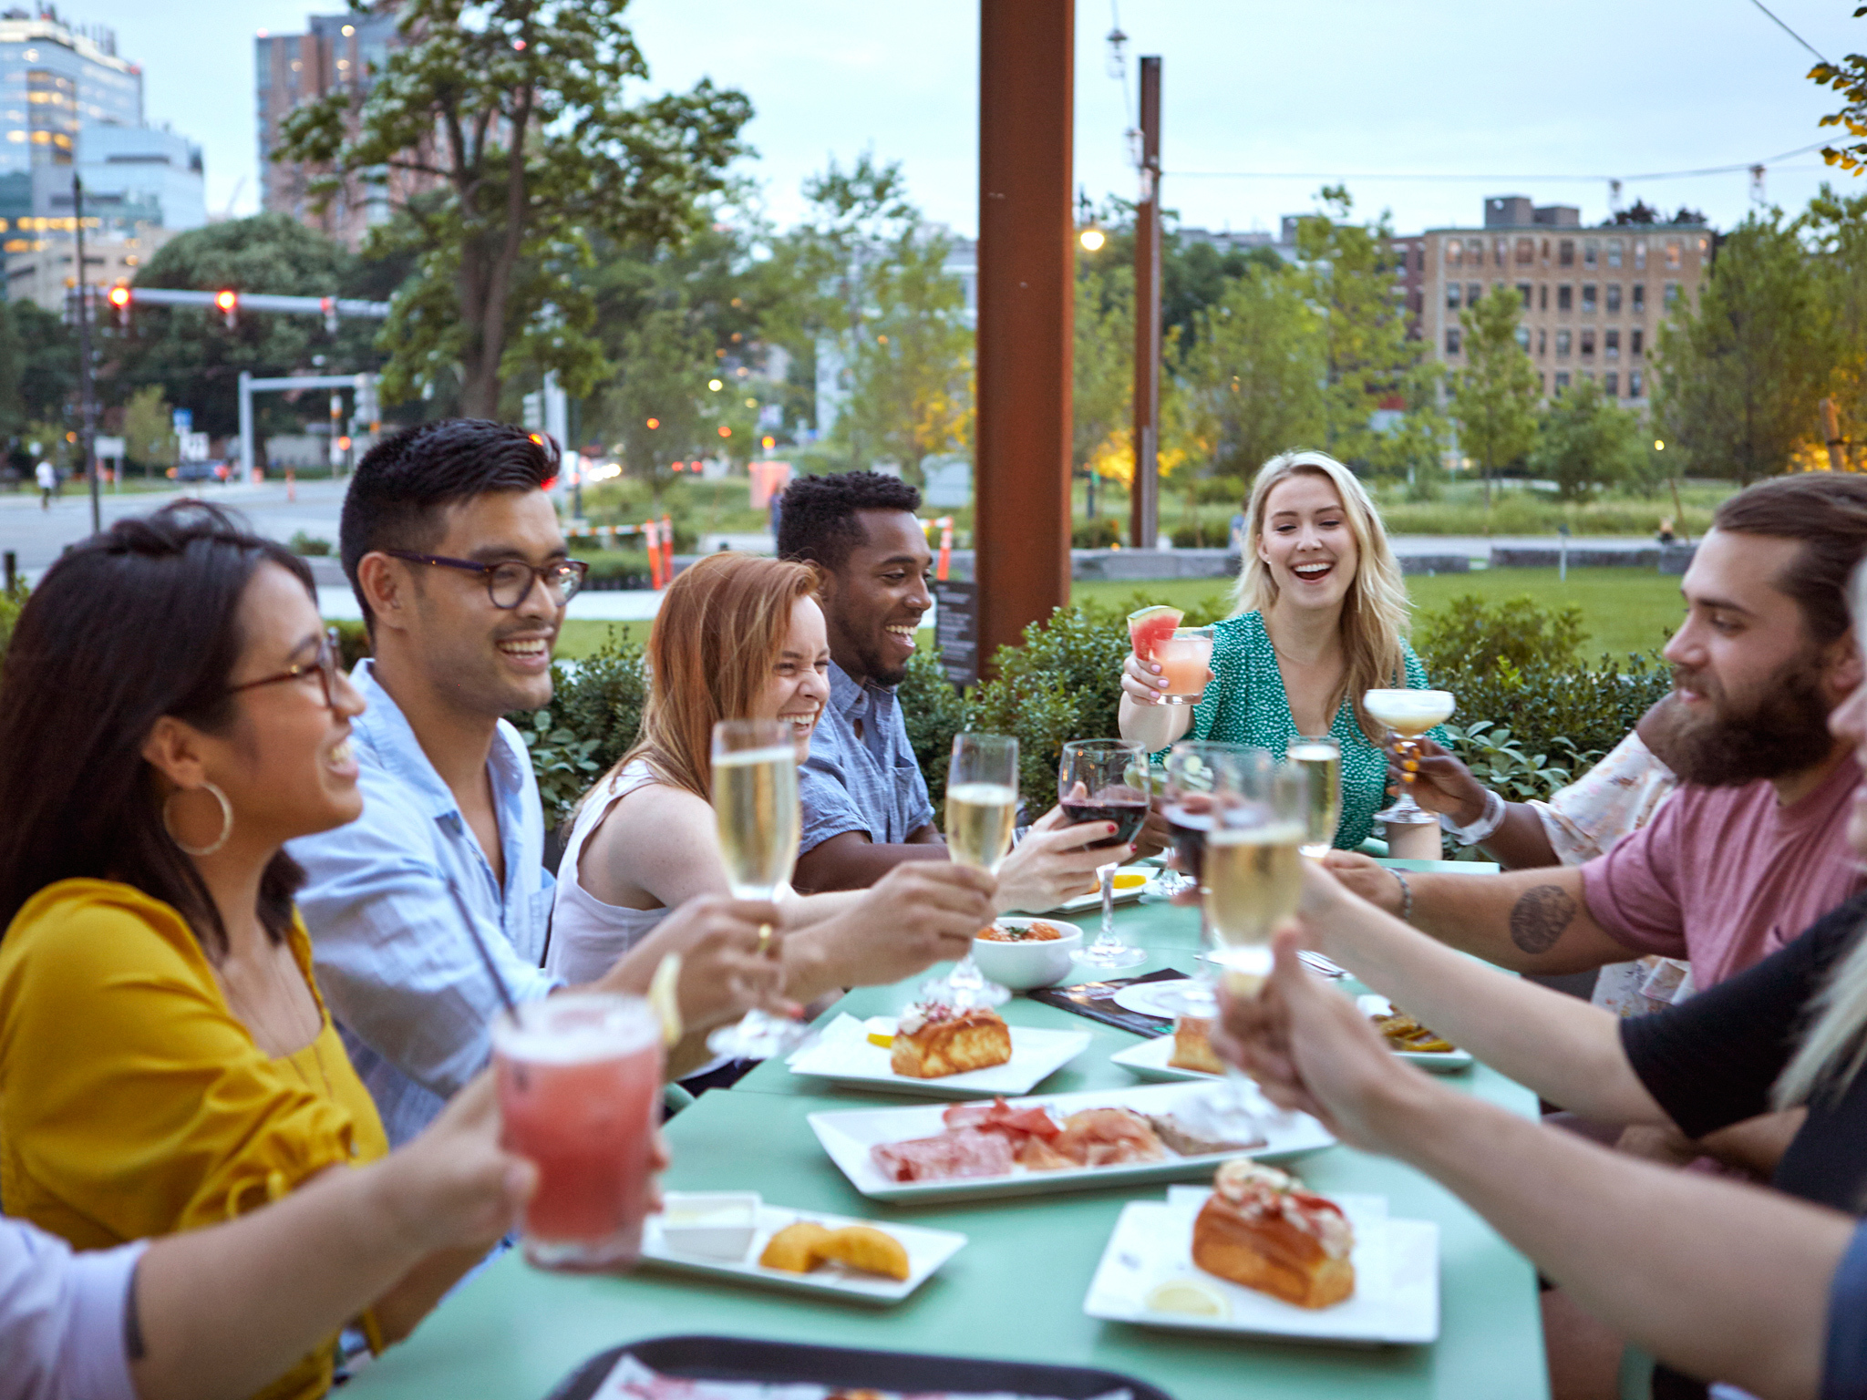
[[[353,730],[364,812],[289,851],[319,987],[396,1144],[485,1064],[500,995],[476,943],[515,999],[558,986],[541,969],[538,782],[500,719],[551,702],[551,648],[586,571],[545,493],[556,472],[556,452],[517,427],[448,420],[372,448],[344,500],[344,573],[372,640],[353,676],[370,706]],[[777,918],[695,900],[596,986],[642,991],[680,948],[723,989],[706,1014],[730,1019],[775,986],[754,948]]]

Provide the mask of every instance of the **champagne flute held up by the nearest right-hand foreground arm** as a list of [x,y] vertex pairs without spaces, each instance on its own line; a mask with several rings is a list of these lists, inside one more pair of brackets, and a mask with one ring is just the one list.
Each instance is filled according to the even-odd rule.
[[[1202,890],[1212,961],[1225,989],[1255,997],[1271,971],[1271,935],[1303,896],[1303,840],[1311,773],[1296,763],[1221,763],[1221,803],[1206,833]],[[1249,1131],[1243,1073],[1225,1066],[1227,1088],[1212,1113]]]

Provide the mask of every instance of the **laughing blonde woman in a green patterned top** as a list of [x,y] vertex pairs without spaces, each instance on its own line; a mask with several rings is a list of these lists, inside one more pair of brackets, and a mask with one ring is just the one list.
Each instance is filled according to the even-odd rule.
[[[1195,739],[1283,754],[1299,734],[1342,745],[1342,821],[1335,844],[1374,834],[1387,801],[1382,726],[1361,707],[1372,689],[1426,689],[1408,646],[1406,588],[1367,489],[1324,452],[1271,457],[1245,510],[1238,612],[1212,629],[1212,683],[1197,706],[1163,706],[1159,666],[1131,651],[1122,666],[1122,737],[1161,750]],[[1443,732],[1432,735],[1443,741]],[[1391,827],[1393,855],[1439,857],[1439,827]]]

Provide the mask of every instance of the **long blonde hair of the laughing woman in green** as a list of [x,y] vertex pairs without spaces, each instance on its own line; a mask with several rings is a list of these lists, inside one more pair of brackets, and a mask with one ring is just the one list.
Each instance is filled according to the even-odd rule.
[[[1408,683],[1402,648],[1408,627],[1406,586],[1400,582],[1400,562],[1387,543],[1387,526],[1382,525],[1367,487],[1327,452],[1284,452],[1258,470],[1256,482],[1251,483],[1251,498],[1245,502],[1245,562],[1232,594],[1234,612],[1268,612],[1277,601],[1277,579],[1258,556],[1264,511],[1271,491],[1299,474],[1318,476],[1335,487],[1348,517],[1348,530],[1355,536],[1355,577],[1342,595],[1342,650],[1348,655],[1342,691],[1348,693],[1361,732],[1380,743],[1383,726],[1369,719],[1361,696]],[[1341,696],[1335,696],[1329,713],[1333,715],[1339,706]]]

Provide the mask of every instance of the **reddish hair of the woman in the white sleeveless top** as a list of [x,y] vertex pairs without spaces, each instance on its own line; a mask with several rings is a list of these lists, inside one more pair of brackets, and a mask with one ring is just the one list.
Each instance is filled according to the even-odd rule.
[[812,564],[732,553],[708,554],[668,584],[648,633],[642,730],[590,791],[640,758],[657,780],[711,803],[713,724],[751,717],[797,599],[816,588]]

